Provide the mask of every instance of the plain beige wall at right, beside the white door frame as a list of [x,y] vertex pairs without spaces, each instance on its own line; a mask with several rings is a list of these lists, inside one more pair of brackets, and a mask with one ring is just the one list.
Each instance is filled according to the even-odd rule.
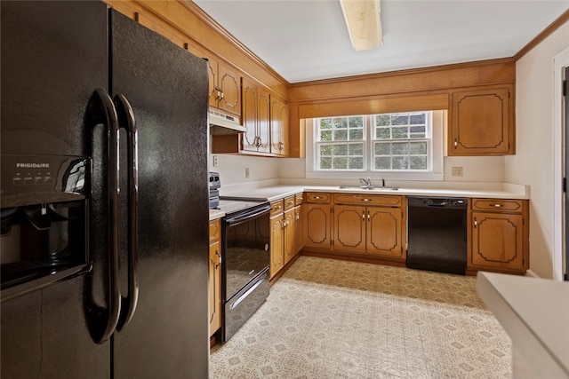
[[530,270],[553,278],[553,58],[569,46],[569,22],[517,61],[517,154],[506,181],[531,186]]

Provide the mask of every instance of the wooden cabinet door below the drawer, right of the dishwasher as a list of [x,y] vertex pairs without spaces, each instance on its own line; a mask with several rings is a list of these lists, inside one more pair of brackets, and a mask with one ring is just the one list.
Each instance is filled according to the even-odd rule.
[[523,230],[520,214],[472,212],[471,265],[523,270]]

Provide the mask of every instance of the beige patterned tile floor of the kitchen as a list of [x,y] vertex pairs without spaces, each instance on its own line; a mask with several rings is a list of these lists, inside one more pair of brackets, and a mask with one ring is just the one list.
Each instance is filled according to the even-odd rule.
[[511,342],[476,278],[300,257],[211,378],[505,378]]

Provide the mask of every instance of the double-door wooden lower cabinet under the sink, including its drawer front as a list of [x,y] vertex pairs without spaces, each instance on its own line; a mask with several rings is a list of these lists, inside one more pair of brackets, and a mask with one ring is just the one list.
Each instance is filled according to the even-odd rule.
[[[356,205],[375,202],[377,205]],[[403,196],[334,196],[333,249],[405,259]]]

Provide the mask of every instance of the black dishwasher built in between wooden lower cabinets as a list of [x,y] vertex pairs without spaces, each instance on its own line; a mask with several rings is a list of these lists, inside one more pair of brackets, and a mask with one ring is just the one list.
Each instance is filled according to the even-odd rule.
[[407,267],[464,275],[467,256],[468,199],[407,199]]

